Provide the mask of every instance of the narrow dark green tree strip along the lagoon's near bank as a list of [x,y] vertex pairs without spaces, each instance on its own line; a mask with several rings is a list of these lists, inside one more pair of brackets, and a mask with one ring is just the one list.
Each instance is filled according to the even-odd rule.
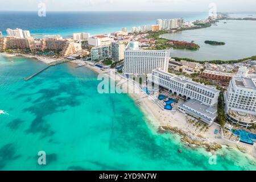
[[181,57],[172,57],[173,59],[175,59],[176,61],[180,61],[180,60],[185,60],[185,61],[189,61],[189,62],[193,62],[193,63],[213,63],[213,64],[233,64],[233,63],[240,63],[243,61],[249,61],[249,60],[256,60],[256,56],[251,56],[251,57],[246,57],[243,59],[238,59],[238,60],[210,60],[210,61],[199,61],[199,60],[193,60],[193,59],[189,59],[189,58],[181,58]]

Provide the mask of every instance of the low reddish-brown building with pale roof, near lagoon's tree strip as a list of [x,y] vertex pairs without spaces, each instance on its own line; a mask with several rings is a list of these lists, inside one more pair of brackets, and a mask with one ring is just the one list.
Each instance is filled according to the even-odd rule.
[[209,78],[211,80],[217,80],[217,81],[230,81],[233,76],[236,76],[234,73],[225,73],[220,71],[212,71],[205,69],[202,73],[202,76],[204,78]]

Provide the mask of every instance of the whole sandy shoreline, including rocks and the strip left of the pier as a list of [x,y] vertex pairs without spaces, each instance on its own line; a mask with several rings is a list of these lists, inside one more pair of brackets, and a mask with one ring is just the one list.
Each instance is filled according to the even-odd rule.
[[[49,64],[52,61],[40,59],[40,57],[33,55],[13,55],[8,53],[0,53],[0,55],[7,57],[24,56],[31,59],[37,59],[46,64]],[[123,81],[123,79],[125,79],[125,77],[119,75],[117,72],[115,72],[115,75],[113,75],[113,71],[109,69],[102,71],[100,68],[88,63],[85,64],[85,62],[81,60],[73,60],[70,63],[89,68],[91,71],[97,74],[106,74],[110,79],[115,81]],[[204,148],[208,152],[216,153],[221,148],[226,146],[244,154],[249,154],[251,157],[253,157],[253,159],[256,159],[256,148],[254,148],[254,146],[248,146],[243,143],[231,143],[223,138],[217,138],[221,135],[213,134],[215,129],[219,130],[219,126],[217,126],[216,123],[213,123],[206,134],[200,133],[195,127],[189,126],[184,114],[180,113],[179,111],[167,111],[160,108],[159,105],[154,102],[154,98],[144,93],[138,85],[134,84],[133,81],[126,79],[122,86],[127,86],[129,91],[128,95],[134,100],[135,104],[139,107],[150,124],[156,127],[156,131],[158,133],[171,132],[178,134],[181,137],[180,140],[191,148]],[[171,119],[168,120],[167,118]]]

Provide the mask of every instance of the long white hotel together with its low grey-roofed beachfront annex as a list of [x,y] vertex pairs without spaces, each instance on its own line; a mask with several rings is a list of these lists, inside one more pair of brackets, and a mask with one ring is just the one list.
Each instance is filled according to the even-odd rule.
[[201,122],[209,126],[216,119],[220,90],[215,86],[200,84],[192,81],[191,78],[177,76],[160,69],[152,71],[148,81],[187,99],[187,102],[178,107],[182,113],[201,118]]

